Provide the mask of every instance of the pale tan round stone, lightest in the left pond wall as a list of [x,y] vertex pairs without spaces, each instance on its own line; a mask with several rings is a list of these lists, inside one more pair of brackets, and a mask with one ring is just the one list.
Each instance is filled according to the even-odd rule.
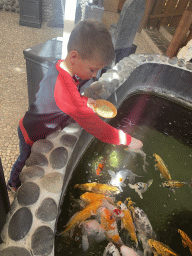
[[63,176],[58,172],[48,173],[41,179],[41,186],[51,193],[59,193],[63,186]]

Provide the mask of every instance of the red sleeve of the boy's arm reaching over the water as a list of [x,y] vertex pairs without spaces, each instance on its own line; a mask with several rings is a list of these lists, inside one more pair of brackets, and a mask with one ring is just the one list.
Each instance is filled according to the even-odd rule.
[[[56,65],[59,75],[55,84],[55,101],[57,106],[72,117],[83,129],[97,139],[119,145],[119,130],[105,123],[94,111],[87,106],[87,97],[81,96],[69,73]],[[131,142],[131,136],[125,134],[125,145]]]

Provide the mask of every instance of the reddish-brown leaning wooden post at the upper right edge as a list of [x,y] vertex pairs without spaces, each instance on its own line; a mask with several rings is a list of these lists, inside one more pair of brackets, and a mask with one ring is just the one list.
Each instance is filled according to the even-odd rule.
[[173,39],[171,40],[171,43],[167,49],[166,55],[168,55],[169,58],[172,58],[177,54],[191,24],[192,12],[185,10],[175,31]]

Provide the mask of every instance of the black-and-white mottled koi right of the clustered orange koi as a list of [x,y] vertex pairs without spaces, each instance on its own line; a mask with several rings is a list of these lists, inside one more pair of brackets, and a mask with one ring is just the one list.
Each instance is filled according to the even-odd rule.
[[152,250],[149,247],[148,239],[154,238],[156,235],[147,215],[142,209],[135,207],[133,211],[133,220],[138,232],[138,239],[143,245],[144,255],[152,255]]

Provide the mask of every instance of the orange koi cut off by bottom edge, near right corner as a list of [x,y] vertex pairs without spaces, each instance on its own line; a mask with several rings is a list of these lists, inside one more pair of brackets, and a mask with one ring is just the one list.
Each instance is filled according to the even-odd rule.
[[151,249],[153,250],[154,256],[159,256],[159,255],[162,255],[162,256],[169,256],[169,255],[179,256],[171,248],[169,248],[169,246],[167,246],[166,244],[163,244],[163,243],[161,243],[157,240],[149,239],[148,244],[151,247]]

